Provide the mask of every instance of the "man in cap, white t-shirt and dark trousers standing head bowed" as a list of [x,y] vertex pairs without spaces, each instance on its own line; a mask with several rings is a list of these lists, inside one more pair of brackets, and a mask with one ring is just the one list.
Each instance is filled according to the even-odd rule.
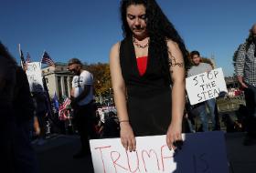
[[73,158],[83,158],[90,154],[89,137],[97,137],[93,127],[93,76],[82,69],[78,58],[71,58],[68,66],[69,71],[75,75],[72,80],[71,107],[81,142],[80,151]]

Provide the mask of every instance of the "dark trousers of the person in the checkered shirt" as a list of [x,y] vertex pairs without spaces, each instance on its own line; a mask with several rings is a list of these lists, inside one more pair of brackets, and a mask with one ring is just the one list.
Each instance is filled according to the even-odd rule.
[[256,134],[256,87],[248,85],[244,90],[246,107],[249,115],[246,117],[246,131]]

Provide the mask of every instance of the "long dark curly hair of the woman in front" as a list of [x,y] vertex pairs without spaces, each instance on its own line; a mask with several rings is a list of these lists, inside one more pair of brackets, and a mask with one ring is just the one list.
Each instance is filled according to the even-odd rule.
[[144,5],[146,8],[146,29],[150,37],[150,45],[154,47],[155,55],[158,55],[163,73],[169,74],[169,67],[174,62],[169,61],[167,39],[176,42],[184,57],[185,67],[188,65],[188,51],[183,39],[178,35],[174,25],[168,20],[155,0],[122,0],[120,12],[122,18],[123,37],[133,36],[126,21],[126,11],[129,5]]

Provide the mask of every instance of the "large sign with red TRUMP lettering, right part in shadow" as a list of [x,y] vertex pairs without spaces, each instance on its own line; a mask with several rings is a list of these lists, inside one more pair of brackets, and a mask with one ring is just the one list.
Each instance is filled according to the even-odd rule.
[[126,152],[120,138],[90,141],[95,173],[228,173],[224,133],[183,134],[181,150],[169,150],[165,136],[136,137],[136,151]]

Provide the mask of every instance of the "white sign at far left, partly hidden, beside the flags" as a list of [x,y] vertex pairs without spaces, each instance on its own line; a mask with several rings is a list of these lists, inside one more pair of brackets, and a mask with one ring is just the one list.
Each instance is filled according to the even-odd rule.
[[31,92],[43,92],[43,80],[41,73],[41,63],[27,63],[27,79]]

